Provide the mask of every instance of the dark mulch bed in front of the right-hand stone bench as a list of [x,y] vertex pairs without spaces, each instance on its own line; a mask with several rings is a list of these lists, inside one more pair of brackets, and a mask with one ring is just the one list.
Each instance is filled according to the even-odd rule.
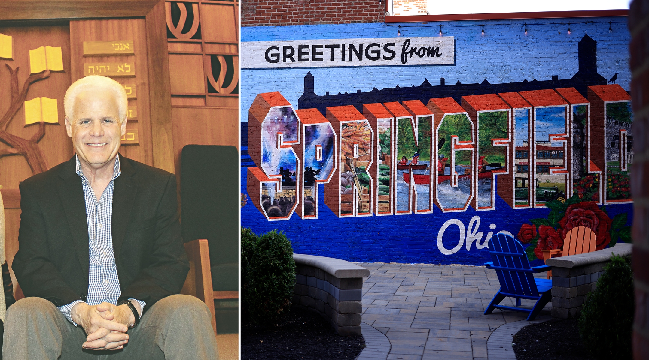
[[532,324],[514,335],[516,358],[527,359],[589,359],[582,344],[577,319],[553,319]]

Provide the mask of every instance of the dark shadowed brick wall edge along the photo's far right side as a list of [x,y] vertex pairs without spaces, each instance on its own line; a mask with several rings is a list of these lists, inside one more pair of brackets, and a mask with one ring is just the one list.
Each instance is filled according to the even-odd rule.
[[633,193],[633,275],[635,322],[633,358],[649,359],[649,1],[635,0],[629,12],[631,32],[631,96],[635,161]]

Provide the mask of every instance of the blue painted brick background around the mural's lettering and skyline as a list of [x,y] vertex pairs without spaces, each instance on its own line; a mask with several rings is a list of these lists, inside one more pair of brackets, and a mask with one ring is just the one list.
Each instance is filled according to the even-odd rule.
[[[570,21],[572,34],[567,35]],[[585,24],[587,21],[596,23]],[[609,21],[613,32],[609,33]],[[523,27],[528,23],[528,36]],[[453,27],[450,25],[485,25],[485,36],[480,36],[480,27]],[[505,23],[506,25],[496,25]],[[563,25],[547,25],[563,23]],[[304,75],[310,71],[315,78],[315,93],[356,93],[382,89],[395,85],[420,85],[428,79],[432,85],[439,84],[439,78],[446,84],[480,83],[487,79],[491,84],[549,80],[552,75],[559,79],[572,77],[578,71],[578,41],[584,34],[598,42],[598,73],[606,78],[618,73],[617,84],[630,90],[628,45],[630,34],[626,17],[598,17],[574,19],[528,19],[525,21],[452,21],[445,22],[445,36],[456,37],[456,65],[430,67],[341,67],[336,69],[283,69],[241,70],[241,120],[247,121],[247,109],[258,93],[280,91],[297,107],[302,95]],[[413,24],[402,24],[413,26]],[[418,24],[419,26],[425,26]],[[437,25],[437,24],[428,24]],[[402,36],[437,36],[439,27],[401,28]],[[559,32],[561,32],[559,34]],[[349,25],[303,25],[286,27],[244,27],[241,41],[262,41],[270,39],[342,39],[380,38],[396,36],[397,28],[384,23]],[[241,56],[246,56],[242,47]],[[247,124],[245,124],[247,125]],[[242,126],[247,129],[247,126]],[[245,130],[244,130],[245,132]],[[242,151],[247,149],[247,133],[242,133]],[[244,160],[243,157],[246,159]],[[243,163],[247,161],[248,163]],[[242,166],[249,166],[247,155],[242,155]],[[241,192],[246,190],[247,168],[241,168]],[[319,197],[323,199],[323,186]],[[609,205],[606,211],[610,218],[627,213],[631,224],[632,205]],[[354,262],[401,262],[432,264],[482,265],[489,261],[488,249],[471,250],[463,246],[457,253],[443,255],[437,247],[437,232],[448,219],[460,219],[465,227],[473,216],[480,216],[478,231],[487,233],[490,224],[495,230],[508,231],[516,235],[522,223],[531,218],[544,218],[549,209],[512,210],[496,195],[496,210],[444,214],[434,208],[433,214],[406,216],[372,216],[370,218],[345,218],[334,216],[328,207],[319,205],[319,219],[302,220],[293,215],[289,221],[267,221],[250,203],[241,209],[241,225],[250,227],[256,233],[273,229],[284,231],[293,242],[295,253],[330,256]],[[452,249],[458,243],[458,227],[451,226],[444,236],[443,245]],[[484,241],[484,238],[483,238]],[[540,260],[535,263],[540,264]]]

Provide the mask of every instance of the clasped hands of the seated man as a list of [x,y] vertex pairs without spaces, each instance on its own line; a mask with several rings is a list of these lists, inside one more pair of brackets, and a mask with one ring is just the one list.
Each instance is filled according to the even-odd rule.
[[82,344],[89,350],[119,350],[129,342],[128,325],[135,322],[129,306],[115,306],[110,302],[90,306],[79,302],[70,312],[72,321],[86,331],[86,342]]

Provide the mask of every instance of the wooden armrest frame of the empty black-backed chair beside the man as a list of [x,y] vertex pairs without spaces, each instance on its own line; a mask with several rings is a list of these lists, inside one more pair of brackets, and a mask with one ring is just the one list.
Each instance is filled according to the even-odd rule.
[[212,290],[212,268],[210,267],[210,250],[206,239],[197,239],[185,243],[185,251],[190,260],[190,272],[187,274],[181,294],[192,295],[201,299],[212,313],[212,328],[216,335],[216,313],[214,300],[239,298],[239,291]]

